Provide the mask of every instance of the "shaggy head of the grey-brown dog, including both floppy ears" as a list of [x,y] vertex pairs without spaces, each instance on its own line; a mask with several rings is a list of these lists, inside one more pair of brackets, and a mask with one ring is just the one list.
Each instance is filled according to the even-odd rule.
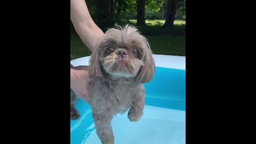
[[155,71],[147,39],[129,25],[107,30],[96,45],[90,66],[91,77],[135,77],[141,83],[150,81]]

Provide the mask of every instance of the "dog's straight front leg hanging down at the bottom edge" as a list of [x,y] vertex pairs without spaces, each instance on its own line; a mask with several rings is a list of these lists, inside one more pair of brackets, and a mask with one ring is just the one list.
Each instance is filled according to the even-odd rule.
[[109,115],[109,111],[104,114],[92,114],[96,133],[102,144],[114,144],[114,134],[111,127],[111,119],[113,115]]

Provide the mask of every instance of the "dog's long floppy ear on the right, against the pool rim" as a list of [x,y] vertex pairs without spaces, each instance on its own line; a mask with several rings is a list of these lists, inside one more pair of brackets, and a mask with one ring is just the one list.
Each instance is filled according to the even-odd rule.
[[150,45],[146,38],[143,38],[143,42],[145,43],[143,50],[145,50],[145,57],[143,58],[144,65],[142,66],[138,76],[137,81],[141,83],[149,82],[155,73],[155,61],[152,57]]

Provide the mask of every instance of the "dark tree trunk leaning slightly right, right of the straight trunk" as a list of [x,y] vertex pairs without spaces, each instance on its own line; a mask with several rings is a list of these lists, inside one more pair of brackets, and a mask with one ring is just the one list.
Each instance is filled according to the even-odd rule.
[[174,22],[176,10],[177,10],[177,3],[178,3],[178,0],[167,1],[166,19],[163,27],[169,27],[169,28],[173,27],[173,22]]

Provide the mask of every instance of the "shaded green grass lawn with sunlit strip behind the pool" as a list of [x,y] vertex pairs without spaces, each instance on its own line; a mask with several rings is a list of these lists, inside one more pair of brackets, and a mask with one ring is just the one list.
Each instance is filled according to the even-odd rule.
[[[130,20],[134,24],[136,20]],[[163,29],[164,20],[146,20],[145,27],[138,27],[143,35],[148,38],[151,50],[154,54],[182,55],[186,56],[186,21],[174,21],[174,29]],[[90,55],[79,36],[70,33],[70,60]]]

